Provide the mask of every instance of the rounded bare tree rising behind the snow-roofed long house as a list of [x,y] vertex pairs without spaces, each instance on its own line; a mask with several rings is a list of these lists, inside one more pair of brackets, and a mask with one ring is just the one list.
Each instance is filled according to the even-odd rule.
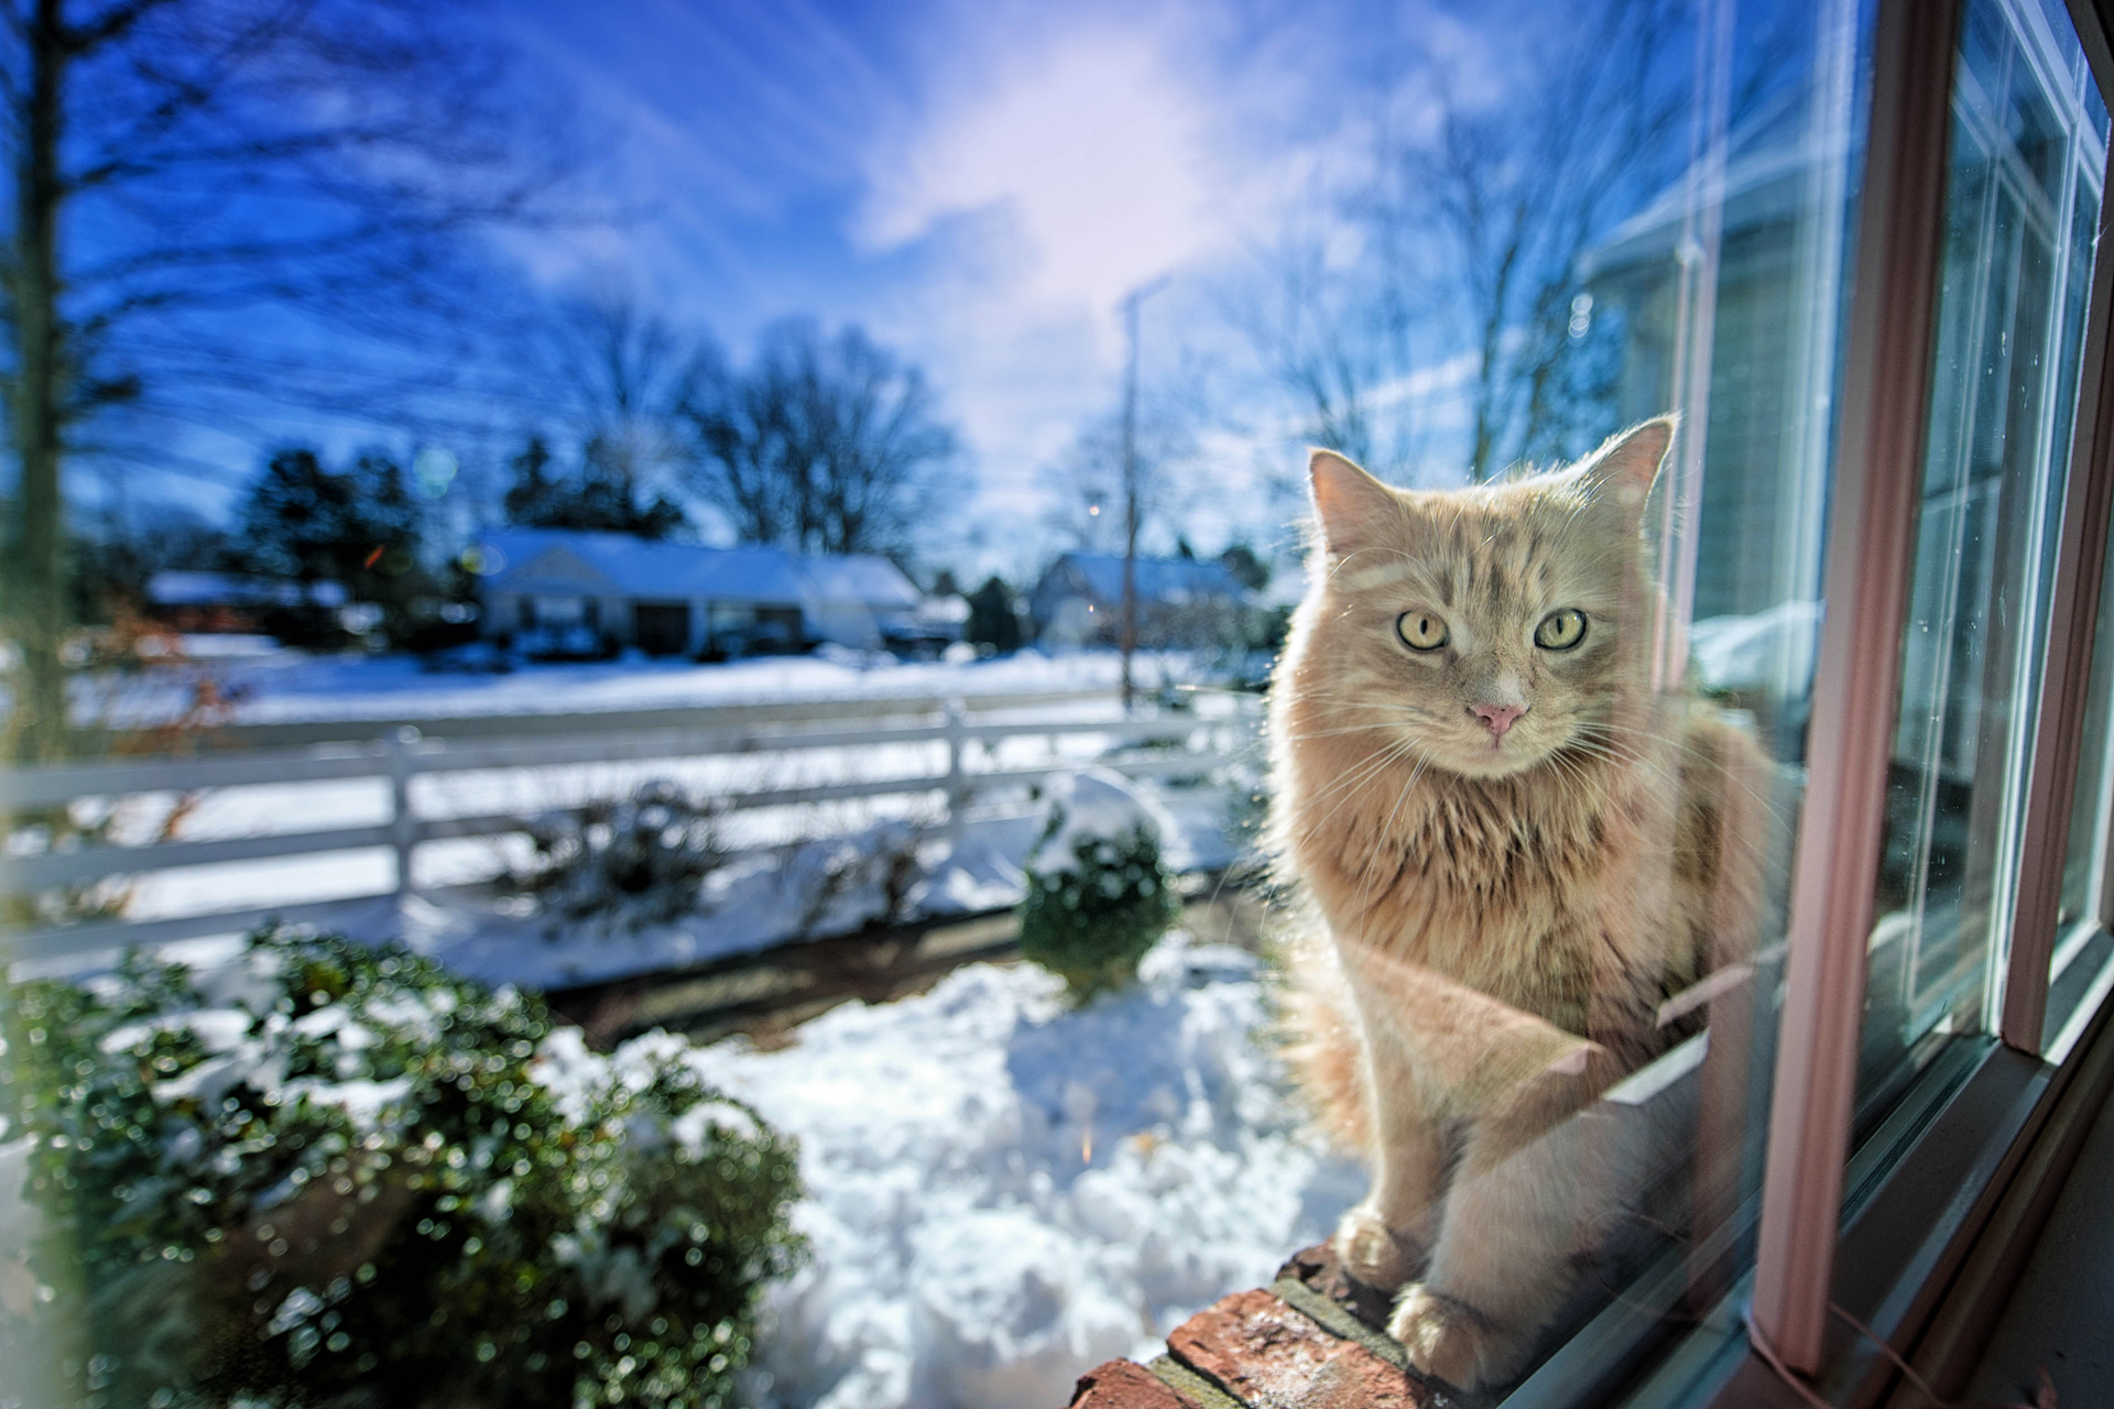
[[907,551],[956,437],[924,374],[858,327],[763,334],[748,372],[704,376],[685,408],[698,488],[746,543]]

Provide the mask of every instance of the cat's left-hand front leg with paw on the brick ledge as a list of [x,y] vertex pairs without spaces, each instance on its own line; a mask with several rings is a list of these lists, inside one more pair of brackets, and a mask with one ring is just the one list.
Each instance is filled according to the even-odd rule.
[[1380,1022],[1361,1027],[1372,1191],[1342,1215],[1332,1246],[1345,1272],[1368,1286],[1393,1291],[1425,1270],[1438,1225],[1444,1149],[1418,1098],[1408,1052]]

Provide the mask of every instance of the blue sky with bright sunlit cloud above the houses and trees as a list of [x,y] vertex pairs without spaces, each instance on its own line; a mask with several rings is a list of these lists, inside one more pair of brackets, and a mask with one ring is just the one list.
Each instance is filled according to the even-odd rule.
[[[924,368],[962,437],[962,492],[930,526],[928,564],[1010,577],[1068,545],[1051,524],[1078,503],[1068,450],[1120,403],[1118,302],[1165,279],[1146,304],[1142,389],[1148,412],[1186,414],[1190,442],[1146,547],[1165,551],[1177,530],[1203,551],[1235,537],[1285,547],[1302,422],[1243,332],[1283,268],[1273,251],[1311,251],[1336,279],[1332,317],[1357,317],[1376,256],[1342,207],[1383,131],[1429,135],[1427,61],[1459,112],[1503,114],[1535,46],[1573,38],[1552,23],[1569,13],[1552,0],[501,0],[484,15],[526,80],[577,110],[590,186],[624,218],[488,239],[543,294],[622,294],[736,359],[780,317],[860,323]],[[1440,302],[1418,313],[1429,327],[1402,374],[1368,380],[1383,414],[1414,420],[1376,465],[1406,482],[1461,473],[1452,389],[1469,359]],[[533,414],[495,399],[486,444],[452,448],[490,484]],[[194,458],[224,471],[175,494],[226,503],[268,439],[315,439],[334,458],[374,439],[298,418],[268,431],[197,431]]]

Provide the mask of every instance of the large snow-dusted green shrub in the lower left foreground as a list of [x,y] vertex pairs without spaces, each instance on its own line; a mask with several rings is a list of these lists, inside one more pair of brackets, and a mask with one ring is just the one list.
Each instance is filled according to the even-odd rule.
[[266,932],[4,1020],[36,1403],[731,1405],[801,1253],[789,1143],[681,1039],[598,1056],[402,951]]

